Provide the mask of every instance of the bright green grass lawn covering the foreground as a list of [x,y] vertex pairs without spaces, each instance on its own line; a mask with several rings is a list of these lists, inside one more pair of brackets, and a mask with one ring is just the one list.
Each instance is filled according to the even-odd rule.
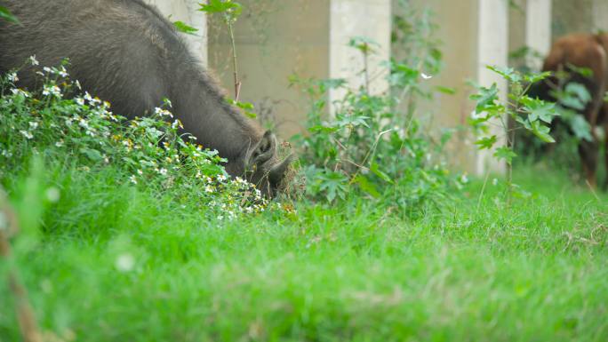
[[[516,172],[534,195],[510,209],[476,180],[415,220],[352,198],[228,223],[111,171],[51,179],[61,199],[14,263],[64,340],[608,339],[608,197],[557,172]],[[3,342],[20,340],[12,306],[0,282]]]

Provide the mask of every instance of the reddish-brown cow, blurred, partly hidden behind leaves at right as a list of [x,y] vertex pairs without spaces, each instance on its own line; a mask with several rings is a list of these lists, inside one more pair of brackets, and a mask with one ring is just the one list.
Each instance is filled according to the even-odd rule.
[[[604,127],[608,133],[608,104],[604,102],[604,94],[608,91],[608,34],[572,34],[556,40],[551,47],[543,64],[543,71],[566,71],[569,77],[565,80],[583,84],[591,100],[587,107],[580,111],[592,128],[592,141],[582,140],[579,145],[580,159],[583,172],[588,183],[596,187],[596,171],[599,160],[600,139],[596,135],[597,127]],[[591,76],[582,76],[574,68],[588,68]],[[551,97],[552,88],[559,82],[556,77],[550,77],[546,82],[532,88],[532,95],[541,99],[555,100]],[[608,144],[607,144],[608,145]],[[605,155],[608,166],[608,152]],[[608,177],[604,182],[608,187]]]

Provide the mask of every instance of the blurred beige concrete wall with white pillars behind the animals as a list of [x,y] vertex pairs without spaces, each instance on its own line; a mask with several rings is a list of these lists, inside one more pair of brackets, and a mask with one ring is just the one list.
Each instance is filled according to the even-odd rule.
[[[198,28],[188,36],[208,69],[230,92],[234,88],[231,44],[219,17],[196,12],[197,1],[150,0],[172,20]],[[241,0],[236,22],[241,100],[252,102],[260,120],[284,139],[305,133],[309,108],[305,93],[292,86],[300,79],[345,78],[363,82],[360,53],[348,46],[365,36],[374,44],[369,62],[372,91],[389,89],[386,60],[420,67],[428,97],[415,113],[432,128],[457,128],[470,115],[468,82],[506,84],[486,65],[540,69],[542,58],[559,36],[608,30],[606,0]],[[330,99],[339,99],[331,91]],[[407,107],[407,103],[400,106]],[[452,164],[482,173],[492,165],[467,133],[448,146]]]

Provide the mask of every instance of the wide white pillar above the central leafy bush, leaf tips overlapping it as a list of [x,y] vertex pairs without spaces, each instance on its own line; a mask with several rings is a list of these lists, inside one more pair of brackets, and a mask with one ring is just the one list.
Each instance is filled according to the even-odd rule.
[[[330,77],[344,78],[353,89],[366,86],[363,54],[348,46],[353,37],[370,38],[373,54],[368,59],[370,92],[388,90],[387,68],[380,62],[390,59],[392,28],[391,0],[332,0],[330,8]],[[332,90],[330,99],[340,99],[344,92]]]

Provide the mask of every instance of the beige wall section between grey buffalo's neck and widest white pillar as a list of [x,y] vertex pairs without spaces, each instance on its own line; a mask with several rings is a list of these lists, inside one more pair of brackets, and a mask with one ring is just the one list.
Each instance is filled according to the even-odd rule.
[[[301,130],[308,99],[290,87],[289,77],[330,75],[329,0],[244,0],[236,23],[241,100],[252,102],[262,121],[275,121],[276,131],[290,138]],[[231,95],[231,47],[226,28],[209,18],[209,67]],[[234,96],[234,95],[233,95]]]

